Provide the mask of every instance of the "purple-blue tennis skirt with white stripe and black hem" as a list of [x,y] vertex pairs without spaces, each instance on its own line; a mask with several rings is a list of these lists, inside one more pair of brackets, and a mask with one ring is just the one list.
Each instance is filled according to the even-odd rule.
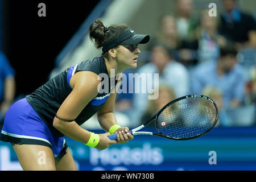
[[68,148],[64,137],[57,137],[49,130],[26,98],[16,101],[7,111],[0,140],[50,147],[56,160],[60,160]]

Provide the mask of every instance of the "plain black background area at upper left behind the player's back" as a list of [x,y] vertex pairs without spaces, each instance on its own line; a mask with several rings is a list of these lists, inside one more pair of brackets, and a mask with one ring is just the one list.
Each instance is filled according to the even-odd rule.
[[[46,17],[39,17],[39,3]],[[56,56],[98,1],[2,0],[2,51],[16,72],[16,96],[48,80]]]

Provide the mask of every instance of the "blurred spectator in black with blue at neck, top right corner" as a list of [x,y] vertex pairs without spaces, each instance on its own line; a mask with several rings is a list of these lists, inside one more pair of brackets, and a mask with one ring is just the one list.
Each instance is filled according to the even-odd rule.
[[255,46],[256,23],[253,16],[242,12],[236,0],[222,0],[224,12],[221,13],[218,31],[237,49]]

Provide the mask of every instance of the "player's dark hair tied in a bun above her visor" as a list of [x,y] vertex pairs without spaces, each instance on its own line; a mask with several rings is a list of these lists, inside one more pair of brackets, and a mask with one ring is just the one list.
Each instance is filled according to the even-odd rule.
[[[113,24],[112,26],[105,27],[101,19],[98,18],[90,25],[90,40],[94,40],[94,46],[96,46],[96,48],[101,48],[105,43],[114,39],[115,36],[118,36],[127,28],[130,27],[126,24]],[[102,56],[108,57],[108,52],[102,53]]]

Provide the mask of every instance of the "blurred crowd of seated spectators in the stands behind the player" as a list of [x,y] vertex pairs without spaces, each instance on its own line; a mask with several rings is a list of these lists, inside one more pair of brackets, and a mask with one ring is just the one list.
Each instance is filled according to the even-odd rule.
[[[175,3],[175,12],[162,15],[158,31],[150,35],[149,59],[124,72],[127,78],[129,73],[158,73],[158,98],[148,100],[148,93],[117,94],[118,122],[138,126],[177,97],[204,94],[216,101],[218,127],[255,125],[255,15],[242,11],[236,0],[222,0],[217,16],[210,16],[209,9],[194,14],[192,0]],[[141,87],[139,81],[128,83],[127,90]],[[0,121],[14,97],[15,71],[0,53]],[[86,127],[100,126],[86,122]]]

